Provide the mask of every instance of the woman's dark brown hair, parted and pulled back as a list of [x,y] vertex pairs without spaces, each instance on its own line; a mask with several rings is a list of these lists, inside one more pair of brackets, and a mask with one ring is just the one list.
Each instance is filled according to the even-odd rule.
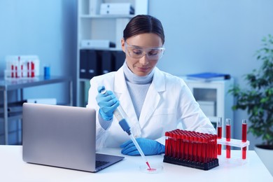
[[124,31],[123,38],[130,38],[138,34],[153,33],[160,36],[162,44],[165,42],[164,29],[160,20],[151,15],[137,15],[128,22]]

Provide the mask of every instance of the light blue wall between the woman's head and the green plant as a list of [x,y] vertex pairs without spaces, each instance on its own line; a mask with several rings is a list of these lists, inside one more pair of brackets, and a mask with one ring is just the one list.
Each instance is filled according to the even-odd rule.
[[[150,0],[149,13],[165,27],[166,52],[158,66],[174,75],[214,71],[242,76],[260,66],[254,53],[273,34],[271,0]],[[244,111],[235,112],[235,138],[241,139]],[[255,140],[248,134],[253,145]]]

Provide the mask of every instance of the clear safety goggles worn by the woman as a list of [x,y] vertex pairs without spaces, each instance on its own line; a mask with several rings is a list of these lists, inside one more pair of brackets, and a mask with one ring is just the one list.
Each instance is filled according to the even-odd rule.
[[125,41],[125,52],[134,59],[141,59],[146,55],[147,59],[158,60],[162,57],[165,48],[142,48],[137,45],[130,45]]

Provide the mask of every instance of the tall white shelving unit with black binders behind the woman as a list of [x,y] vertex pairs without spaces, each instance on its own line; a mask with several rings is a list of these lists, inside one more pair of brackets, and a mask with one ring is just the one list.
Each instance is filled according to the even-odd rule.
[[[101,15],[99,9],[102,3],[130,3],[134,9],[134,14]],[[123,64],[125,54],[120,45],[123,29],[134,15],[147,13],[148,0],[78,0],[77,106],[87,104],[87,92],[92,76],[116,71]],[[86,46],[91,40],[103,40],[104,43],[109,41],[116,47],[94,48]],[[81,62],[83,59],[85,62]],[[118,61],[111,63],[112,59]],[[108,70],[102,68],[103,65]]]

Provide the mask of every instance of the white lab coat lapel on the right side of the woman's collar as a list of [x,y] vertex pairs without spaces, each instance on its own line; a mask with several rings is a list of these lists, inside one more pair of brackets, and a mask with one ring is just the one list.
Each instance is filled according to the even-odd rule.
[[144,105],[141,109],[141,115],[139,117],[140,127],[144,127],[148,120],[151,118],[155,109],[158,108],[160,104],[160,92],[165,91],[165,78],[160,70],[155,67],[155,73],[153,75],[153,82],[148,89]]

